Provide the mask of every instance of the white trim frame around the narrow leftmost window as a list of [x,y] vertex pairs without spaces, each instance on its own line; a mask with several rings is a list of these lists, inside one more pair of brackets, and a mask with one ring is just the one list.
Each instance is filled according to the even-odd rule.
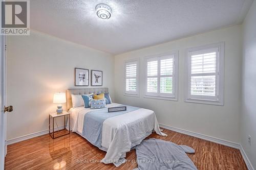
[[[128,92],[126,91],[126,64],[137,62],[137,69],[136,69],[136,92]],[[140,96],[140,58],[131,59],[131,60],[125,60],[124,61],[124,89],[123,89],[123,95],[125,96],[133,96],[133,97],[139,97]]]

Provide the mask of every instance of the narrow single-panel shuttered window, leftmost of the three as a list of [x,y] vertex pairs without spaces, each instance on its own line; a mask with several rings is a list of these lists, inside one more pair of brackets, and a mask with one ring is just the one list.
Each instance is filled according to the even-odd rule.
[[125,62],[125,95],[139,96],[139,60]]

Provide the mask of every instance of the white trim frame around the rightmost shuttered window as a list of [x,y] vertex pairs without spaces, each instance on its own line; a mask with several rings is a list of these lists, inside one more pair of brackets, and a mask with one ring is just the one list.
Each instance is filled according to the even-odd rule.
[[[184,84],[184,92],[185,92],[185,100],[184,102],[190,103],[200,103],[200,104],[209,104],[209,105],[220,105],[224,106],[224,50],[225,50],[225,43],[212,43],[208,45],[202,45],[197,47],[191,47],[186,50],[186,57],[185,57],[185,84]],[[216,73],[216,82],[218,85],[218,95],[217,100],[211,99],[195,99],[190,96],[190,82],[191,79],[190,69],[191,69],[191,62],[190,62],[190,53],[196,51],[207,51],[209,48],[218,48],[219,56],[217,59],[217,72]],[[194,95],[195,96],[195,95]]]

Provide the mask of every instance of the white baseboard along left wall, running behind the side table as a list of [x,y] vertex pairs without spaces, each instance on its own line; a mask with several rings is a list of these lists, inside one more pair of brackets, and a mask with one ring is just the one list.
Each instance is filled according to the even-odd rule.
[[[64,126],[54,128],[54,131],[55,130],[58,131],[58,130],[62,130],[62,129],[64,129]],[[9,139],[9,140],[6,141],[6,143],[7,143],[7,145],[10,145],[10,144],[13,144],[13,143],[17,143],[17,142],[20,142],[20,141],[28,140],[28,139],[38,137],[38,136],[41,136],[41,135],[46,135],[46,134],[49,134],[49,129],[44,130],[44,131],[40,131],[40,132],[31,133],[31,134],[24,135],[24,136],[20,136],[20,137],[16,137],[16,138],[13,138],[13,139]]]

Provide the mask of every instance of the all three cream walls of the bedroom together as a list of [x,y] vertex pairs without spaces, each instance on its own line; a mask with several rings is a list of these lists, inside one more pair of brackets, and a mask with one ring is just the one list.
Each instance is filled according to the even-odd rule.
[[[115,57],[37,31],[31,31],[30,36],[8,36],[7,105],[13,105],[14,111],[7,114],[7,139],[47,130],[48,114],[56,110],[56,105],[52,104],[53,93],[79,88],[74,87],[74,68],[99,69],[103,70],[102,87],[109,87],[115,102],[152,109],[161,124],[241,142],[255,168],[255,30],[254,1],[243,26],[203,33]],[[224,106],[185,103],[185,49],[221,41],[225,41]],[[142,75],[140,98],[123,95],[125,60],[141,58],[142,61],[145,56],[173,50],[179,50],[178,102],[143,98]],[[252,138],[251,145],[247,142],[248,135]]]

